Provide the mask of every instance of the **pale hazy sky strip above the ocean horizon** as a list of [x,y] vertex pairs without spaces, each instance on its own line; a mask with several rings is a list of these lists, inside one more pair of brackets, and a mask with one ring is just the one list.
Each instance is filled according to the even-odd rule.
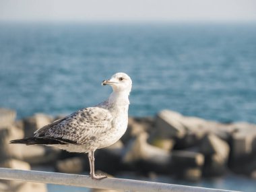
[[0,0],[0,20],[256,21],[256,0]]

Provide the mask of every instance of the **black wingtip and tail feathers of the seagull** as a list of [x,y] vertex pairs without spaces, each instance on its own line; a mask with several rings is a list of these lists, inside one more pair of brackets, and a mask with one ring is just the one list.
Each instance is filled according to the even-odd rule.
[[30,145],[51,145],[51,144],[66,144],[56,139],[49,139],[49,138],[38,138],[38,137],[29,137],[25,139],[15,139],[11,140],[10,143],[22,143],[26,144],[27,146]]

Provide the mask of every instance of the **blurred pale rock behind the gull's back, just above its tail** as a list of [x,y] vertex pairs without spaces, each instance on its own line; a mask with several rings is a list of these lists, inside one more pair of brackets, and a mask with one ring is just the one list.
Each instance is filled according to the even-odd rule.
[[43,113],[36,113],[32,117],[27,117],[24,119],[25,137],[31,137],[34,131],[48,125],[51,122],[53,122],[53,117],[44,115]]

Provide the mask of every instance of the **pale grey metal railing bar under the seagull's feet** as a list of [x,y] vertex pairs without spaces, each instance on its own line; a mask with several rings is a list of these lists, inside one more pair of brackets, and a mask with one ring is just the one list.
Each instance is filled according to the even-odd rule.
[[71,185],[96,189],[116,189],[141,192],[230,192],[228,190],[221,189],[208,189],[203,187],[190,187],[166,183],[136,181],[131,179],[106,178],[98,181],[93,180],[86,175],[80,174],[64,174],[59,172],[44,172],[35,170],[17,170],[11,168],[0,168],[0,179],[51,183],[57,185]]

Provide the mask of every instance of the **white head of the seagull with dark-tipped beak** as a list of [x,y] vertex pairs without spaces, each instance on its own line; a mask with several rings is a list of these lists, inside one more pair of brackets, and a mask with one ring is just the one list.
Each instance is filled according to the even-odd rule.
[[104,80],[102,86],[110,85],[114,92],[131,92],[131,78],[126,73],[115,73],[110,79]]

